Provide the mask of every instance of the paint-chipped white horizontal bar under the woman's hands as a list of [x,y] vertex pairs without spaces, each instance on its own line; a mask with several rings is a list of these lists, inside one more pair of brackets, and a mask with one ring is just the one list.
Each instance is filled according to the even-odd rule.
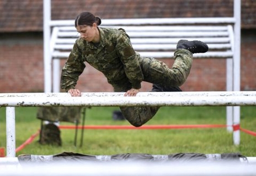
[[[168,94],[167,94],[168,93]],[[256,106],[255,92],[248,94],[221,95],[215,92],[212,94],[189,95],[189,92],[150,92],[145,93],[148,96],[124,97],[123,93],[113,92],[104,93],[105,96],[93,96],[96,93],[83,94],[82,97],[57,96],[58,94],[67,95],[67,93],[56,93],[56,96],[2,96],[0,98],[0,107],[34,107],[34,106]],[[39,93],[40,94],[40,93]],[[186,95],[187,94],[187,95]],[[201,94],[201,95],[200,95]],[[32,94],[33,95],[33,94]],[[50,95],[50,94],[49,94]],[[54,94],[52,94],[54,95]],[[87,95],[87,96],[86,96]],[[152,96],[154,95],[154,96]]]

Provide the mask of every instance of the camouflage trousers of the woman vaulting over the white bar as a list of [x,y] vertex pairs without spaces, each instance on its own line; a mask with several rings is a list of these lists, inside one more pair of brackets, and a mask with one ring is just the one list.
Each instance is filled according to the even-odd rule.
[[[188,78],[192,61],[193,54],[188,50],[180,49],[174,52],[172,68],[154,58],[143,58],[139,62],[144,75],[143,81],[164,87],[175,87],[181,86],[186,78]],[[113,87],[115,92],[126,92],[131,89],[131,84],[127,80],[122,80],[119,84],[114,84]],[[159,108],[155,106],[122,106],[120,110],[132,125],[140,127],[148,122],[157,113]]]

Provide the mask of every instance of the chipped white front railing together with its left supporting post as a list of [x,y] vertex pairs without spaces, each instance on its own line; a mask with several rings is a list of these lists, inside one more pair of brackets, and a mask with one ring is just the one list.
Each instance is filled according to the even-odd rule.
[[[124,92],[90,92],[82,97],[68,93],[0,94],[0,107],[7,107],[7,157],[15,157],[15,107],[28,106],[256,106],[256,91],[140,92],[136,97],[124,97]],[[239,125],[240,117],[227,124]],[[240,143],[239,129],[233,131],[233,142]]]

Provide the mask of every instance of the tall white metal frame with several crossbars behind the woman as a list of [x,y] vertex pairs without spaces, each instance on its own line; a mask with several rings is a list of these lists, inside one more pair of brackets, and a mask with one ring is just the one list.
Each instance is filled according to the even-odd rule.
[[[180,38],[190,38],[191,40],[196,38],[209,43],[210,50],[224,50],[224,52],[209,51],[205,54],[195,54],[194,58],[227,58],[227,91],[239,91],[241,0],[233,1],[233,12],[233,17],[228,18],[104,19],[102,26],[123,27],[127,31],[127,34],[130,35],[135,50],[138,50],[143,56],[156,58],[172,57],[172,50],[175,49],[174,43],[177,43]],[[74,38],[72,37],[78,37],[73,23],[73,20],[51,20],[51,1],[44,0],[45,92],[60,91],[59,62],[60,58],[66,58],[68,56],[68,52],[60,51],[71,50],[72,43],[74,42]],[[223,26],[223,24],[227,25]],[[159,27],[159,25],[166,26]],[[186,26],[180,27],[177,25]],[[134,31],[135,29],[140,30],[142,33]],[[161,30],[159,31],[159,29]],[[148,37],[156,36],[156,34],[157,36],[161,36],[161,38],[158,38],[155,43],[149,43],[147,40]],[[142,38],[137,38],[141,36]],[[144,43],[141,43],[141,41]],[[150,41],[154,40],[151,38]],[[159,43],[159,41],[162,41],[162,43]],[[159,48],[161,50],[167,50],[167,52],[157,51]],[[147,49],[155,51],[150,52]],[[226,117],[227,125],[237,124],[240,118],[239,106],[228,106]],[[233,129],[228,128],[227,130],[232,131]],[[234,135],[239,136],[239,130]],[[234,143],[239,144],[239,140]]]

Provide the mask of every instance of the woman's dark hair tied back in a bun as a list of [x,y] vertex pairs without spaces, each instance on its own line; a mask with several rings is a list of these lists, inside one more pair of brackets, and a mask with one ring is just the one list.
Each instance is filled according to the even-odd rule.
[[75,27],[77,27],[79,25],[92,26],[93,23],[100,25],[100,24],[102,24],[102,20],[99,17],[95,17],[90,12],[82,12],[81,14],[77,15],[76,19],[74,20]]

